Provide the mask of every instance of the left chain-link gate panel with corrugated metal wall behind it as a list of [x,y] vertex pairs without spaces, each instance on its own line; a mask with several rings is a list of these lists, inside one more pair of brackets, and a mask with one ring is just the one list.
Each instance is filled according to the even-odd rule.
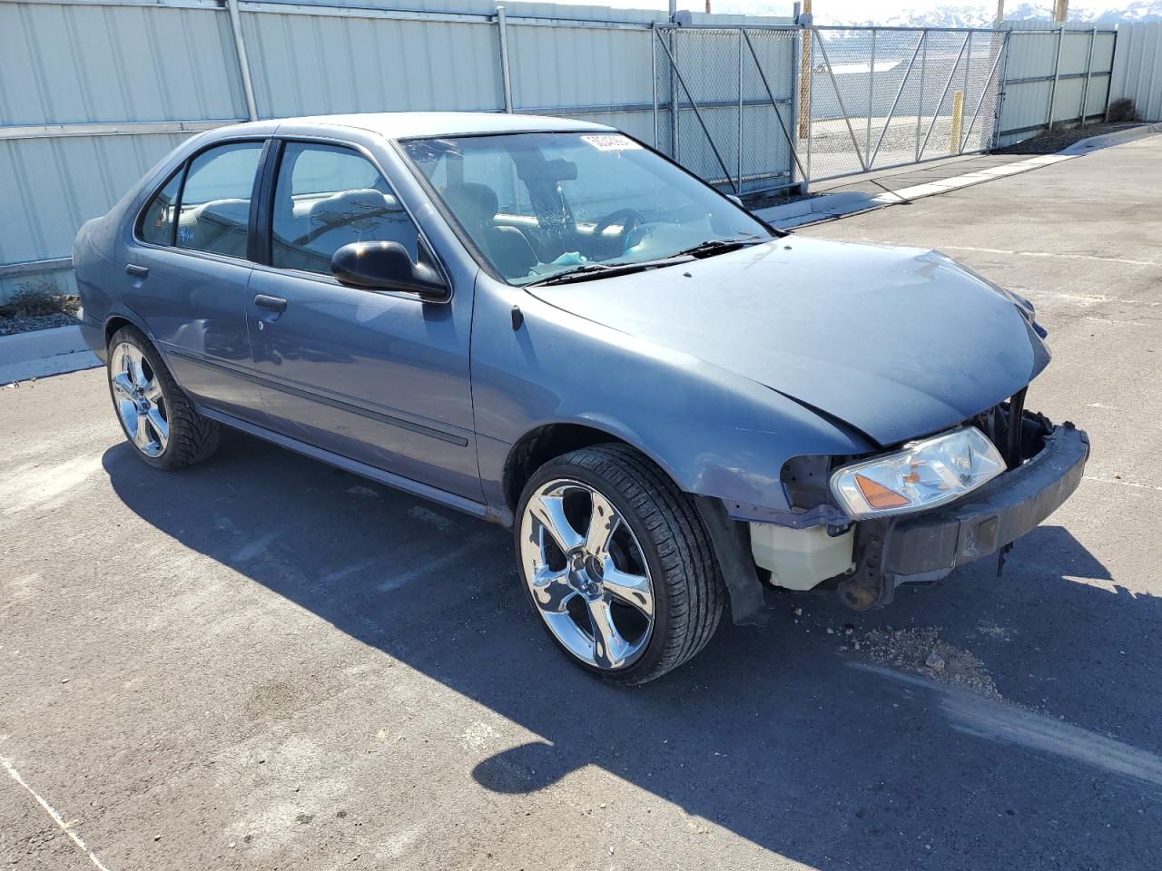
[[654,30],[654,142],[737,194],[797,183],[797,28]]

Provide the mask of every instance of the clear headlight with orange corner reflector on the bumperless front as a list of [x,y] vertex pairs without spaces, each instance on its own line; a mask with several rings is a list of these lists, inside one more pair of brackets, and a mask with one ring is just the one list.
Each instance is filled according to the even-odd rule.
[[963,426],[854,462],[831,475],[831,492],[856,520],[944,505],[991,481],[1005,461],[984,433]]

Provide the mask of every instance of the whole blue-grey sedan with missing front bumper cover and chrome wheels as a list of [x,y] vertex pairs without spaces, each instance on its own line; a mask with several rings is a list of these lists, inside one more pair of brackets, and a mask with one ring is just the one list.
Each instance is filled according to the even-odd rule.
[[73,259],[144,462],[229,426],[510,526],[550,636],[617,683],[727,604],[867,609],[1003,560],[1089,454],[1024,408],[1049,361],[1026,300],[938,252],[786,236],[598,124],[222,128]]

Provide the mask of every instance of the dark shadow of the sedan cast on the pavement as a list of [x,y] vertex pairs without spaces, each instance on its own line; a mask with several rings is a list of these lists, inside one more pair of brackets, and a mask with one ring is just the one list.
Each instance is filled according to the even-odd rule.
[[[686,667],[622,689],[552,648],[500,527],[241,434],[178,474],[125,444],[103,465],[185,547],[540,736],[465,790],[532,792],[596,765],[702,818],[691,830],[819,869],[1146,868],[1162,847],[1162,600],[1118,588],[1060,526],[1000,578],[968,567],[882,611],[786,596],[761,629],[727,614]],[[970,650],[1006,701],[869,667],[869,633],[912,627]]]

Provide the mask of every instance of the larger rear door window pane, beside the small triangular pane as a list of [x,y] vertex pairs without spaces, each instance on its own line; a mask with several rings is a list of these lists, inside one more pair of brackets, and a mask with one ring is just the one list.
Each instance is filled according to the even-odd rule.
[[189,163],[178,209],[178,247],[246,257],[250,197],[261,153],[259,142],[229,143]]

